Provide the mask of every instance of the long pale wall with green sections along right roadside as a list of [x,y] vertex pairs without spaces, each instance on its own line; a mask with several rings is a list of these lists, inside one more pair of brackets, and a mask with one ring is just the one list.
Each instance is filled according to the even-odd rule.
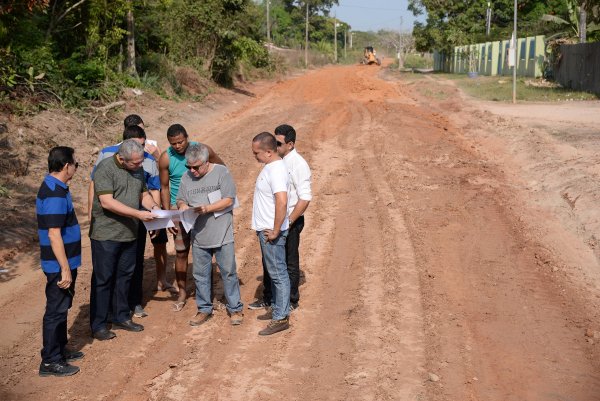
[[[510,40],[456,46],[451,55],[433,54],[433,69],[455,74],[512,75],[508,66]],[[517,75],[541,77],[544,68],[544,36],[517,40]]]

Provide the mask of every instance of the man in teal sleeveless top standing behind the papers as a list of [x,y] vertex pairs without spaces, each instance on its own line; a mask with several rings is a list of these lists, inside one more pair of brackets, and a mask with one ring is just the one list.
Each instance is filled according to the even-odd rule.
[[[160,177],[160,198],[163,209],[177,210],[177,192],[181,177],[188,169],[186,168],[185,151],[190,142],[185,128],[180,124],[173,124],[167,130],[169,148],[165,150],[158,160],[158,173]],[[225,165],[223,160],[210,147],[208,148],[208,161],[214,164]],[[173,310],[179,312],[185,306],[187,299],[186,279],[188,269],[188,256],[190,253],[190,236],[185,232],[181,224],[178,227],[169,228],[175,239],[175,279],[179,293],[177,301],[173,304]]]

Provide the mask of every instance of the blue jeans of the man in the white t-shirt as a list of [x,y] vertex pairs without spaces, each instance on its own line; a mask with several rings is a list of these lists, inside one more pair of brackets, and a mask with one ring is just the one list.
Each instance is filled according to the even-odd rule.
[[285,319],[290,314],[290,277],[285,260],[287,230],[282,231],[273,242],[268,242],[262,231],[257,231],[256,234],[264,265],[271,277],[273,320]]

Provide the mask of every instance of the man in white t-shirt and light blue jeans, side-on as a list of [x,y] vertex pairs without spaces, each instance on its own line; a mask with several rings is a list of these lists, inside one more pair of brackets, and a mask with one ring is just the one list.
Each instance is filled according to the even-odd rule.
[[258,235],[263,264],[271,277],[272,311],[258,317],[261,320],[271,319],[269,325],[258,332],[261,336],[268,336],[290,327],[290,278],[285,259],[289,178],[287,167],[277,154],[277,140],[272,134],[261,132],[256,135],[252,139],[252,153],[256,160],[265,164],[256,179],[252,229]]

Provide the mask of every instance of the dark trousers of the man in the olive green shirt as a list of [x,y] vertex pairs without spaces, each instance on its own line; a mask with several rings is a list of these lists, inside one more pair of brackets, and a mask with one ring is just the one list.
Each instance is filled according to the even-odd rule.
[[113,321],[124,322],[129,316],[129,287],[135,269],[137,240],[129,242],[90,240],[92,245],[92,289],[90,326],[92,332],[106,328],[112,294]]

